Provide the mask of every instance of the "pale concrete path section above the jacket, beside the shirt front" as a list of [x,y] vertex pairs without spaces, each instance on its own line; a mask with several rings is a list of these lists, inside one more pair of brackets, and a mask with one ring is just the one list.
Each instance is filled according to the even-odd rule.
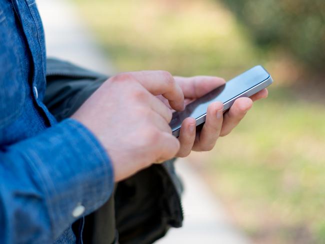
[[68,0],[36,0],[43,21],[47,56],[59,57],[105,74],[112,72],[91,31]]

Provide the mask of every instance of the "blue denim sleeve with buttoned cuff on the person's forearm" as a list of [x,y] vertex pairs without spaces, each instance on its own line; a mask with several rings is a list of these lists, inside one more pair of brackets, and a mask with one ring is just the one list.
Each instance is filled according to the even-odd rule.
[[106,152],[73,119],[2,148],[0,243],[50,243],[81,216],[77,212],[101,206],[113,184]]

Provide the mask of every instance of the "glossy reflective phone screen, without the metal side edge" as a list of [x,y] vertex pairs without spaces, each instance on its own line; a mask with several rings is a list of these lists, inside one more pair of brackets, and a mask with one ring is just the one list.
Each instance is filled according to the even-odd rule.
[[255,66],[235,78],[229,80],[224,85],[215,88],[202,97],[187,104],[183,111],[176,111],[172,114],[169,123],[172,130],[180,128],[181,122],[187,117],[195,119],[206,114],[207,106],[214,101],[226,103],[239,94],[249,90],[269,77],[268,72],[261,66]]

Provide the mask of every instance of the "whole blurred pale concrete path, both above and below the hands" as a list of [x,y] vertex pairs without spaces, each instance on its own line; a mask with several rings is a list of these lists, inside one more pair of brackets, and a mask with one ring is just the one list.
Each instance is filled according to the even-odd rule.
[[[84,20],[78,15],[74,5],[66,0],[36,2],[44,24],[48,55],[103,73],[111,73],[110,63],[96,47],[91,32],[85,28]],[[231,226],[220,203],[188,162],[179,159],[176,167],[185,186],[183,227],[171,229],[166,237],[156,243],[248,243]]]

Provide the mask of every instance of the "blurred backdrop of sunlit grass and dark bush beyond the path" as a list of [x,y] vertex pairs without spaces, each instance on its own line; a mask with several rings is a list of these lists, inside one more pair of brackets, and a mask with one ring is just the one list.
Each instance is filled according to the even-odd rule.
[[231,134],[188,161],[254,243],[325,243],[324,0],[71,0],[116,71],[273,76]]

